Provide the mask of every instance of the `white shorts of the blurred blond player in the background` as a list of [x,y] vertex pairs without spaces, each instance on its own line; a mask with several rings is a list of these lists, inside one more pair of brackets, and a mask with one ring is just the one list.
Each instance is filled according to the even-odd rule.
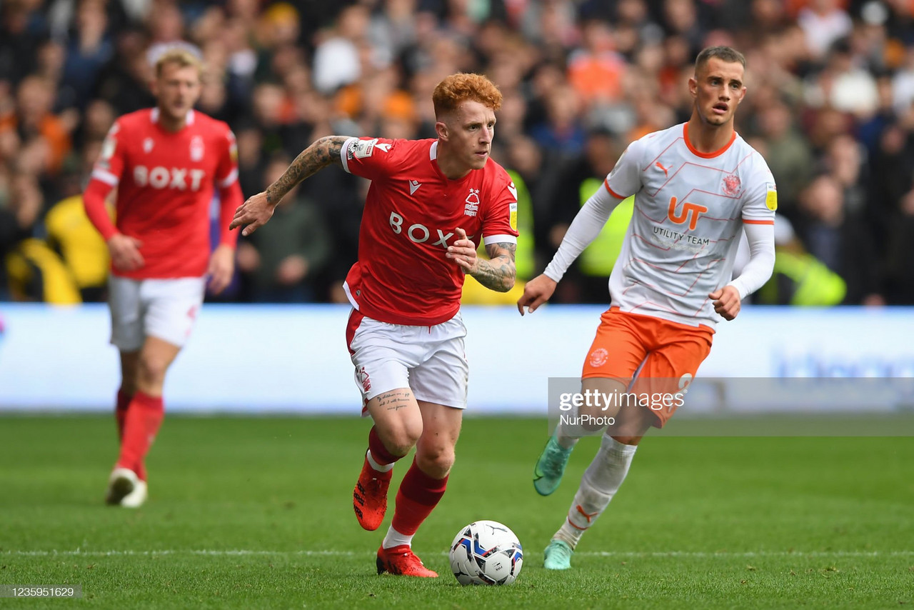
[[132,280],[112,275],[108,280],[112,344],[122,351],[137,351],[148,336],[183,348],[205,290],[204,277]]

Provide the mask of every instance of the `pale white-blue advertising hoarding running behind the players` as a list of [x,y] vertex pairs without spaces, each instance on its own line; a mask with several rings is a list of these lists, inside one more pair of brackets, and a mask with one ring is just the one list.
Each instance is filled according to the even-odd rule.
[[[602,308],[465,307],[471,412],[543,414],[548,378],[575,378]],[[171,412],[359,412],[342,305],[205,305],[165,383]],[[0,304],[0,410],[109,411],[118,385],[105,305]],[[914,308],[747,307],[717,326],[698,378],[914,377]],[[813,410],[857,408],[786,390]],[[696,411],[768,401],[696,387]],[[751,394],[750,384],[742,390]],[[802,400],[801,400],[802,399]],[[871,399],[871,400],[870,400]],[[891,397],[870,396],[873,408]],[[795,407],[783,402],[785,407]]]

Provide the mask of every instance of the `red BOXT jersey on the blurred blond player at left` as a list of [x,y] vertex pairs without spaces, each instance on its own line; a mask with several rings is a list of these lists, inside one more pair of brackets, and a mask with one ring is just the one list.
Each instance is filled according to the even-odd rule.
[[[199,277],[210,254],[209,209],[214,187],[238,180],[235,135],[226,123],[190,111],[176,133],[158,123],[158,109],[125,114],[112,126],[92,180],[117,187],[117,230],[142,242],[144,264],[133,279]],[[99,227],[108,240],[113,227]],[[105,234],[108,233],[108,234]],[[226,237],[223,242],[237,239]]]

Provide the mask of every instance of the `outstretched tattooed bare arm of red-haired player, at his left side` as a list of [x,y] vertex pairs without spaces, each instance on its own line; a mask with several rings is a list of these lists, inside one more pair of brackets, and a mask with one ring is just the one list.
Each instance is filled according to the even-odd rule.
[[338,166],[343,165],[340,151],[348,139],[345,135],[328,135],[305,148],[276,182],[262,193],[249,198],[239,206],[239,209],[235,210],[235,218],[232,219],[228,228],[244,227],[241,234],[250,235],[266,224],[273,215],[276,204],[292,190],[292,187],[305,178],[314,176],[332,163]]

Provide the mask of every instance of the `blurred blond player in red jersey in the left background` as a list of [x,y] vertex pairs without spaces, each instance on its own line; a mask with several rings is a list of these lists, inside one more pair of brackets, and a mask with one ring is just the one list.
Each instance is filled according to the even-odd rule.
[[[146,499],[143,461],[164,416],[165,371],[184,346],[203,303],[207,275],[221,292],[235,267],[228,230],[242,201],[235,136],[193,110],[202,67],[186,50],[155,64],[156,107],[125,114],[108,133],[83,196],[107,241],[112,273],[112,344],[121,352],[115,411],[121,455],[106,501],[135,508]],[[117,188],[117,223],[104,201]],[[222,231],[211,251],[209,206],[218,187]]]

